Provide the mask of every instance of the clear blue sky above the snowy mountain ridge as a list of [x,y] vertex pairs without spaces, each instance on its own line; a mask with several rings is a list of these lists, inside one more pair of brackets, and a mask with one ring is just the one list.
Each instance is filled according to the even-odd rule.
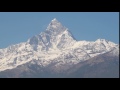
[[0,12],[0,48],[27,41],[44,31],[53,18],[77,40],[119,43],[118,12]]

